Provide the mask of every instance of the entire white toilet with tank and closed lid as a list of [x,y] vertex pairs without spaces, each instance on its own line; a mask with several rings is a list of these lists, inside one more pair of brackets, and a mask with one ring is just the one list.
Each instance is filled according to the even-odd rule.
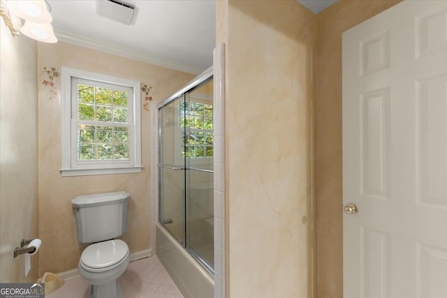
[[78,241],[90,244],[82,252],[79,273],[91,285],[91,298],[119,298],[117,278],[129,265],[129,247],[115,239],[126,232],[129,193],[79,195],[75,209]]

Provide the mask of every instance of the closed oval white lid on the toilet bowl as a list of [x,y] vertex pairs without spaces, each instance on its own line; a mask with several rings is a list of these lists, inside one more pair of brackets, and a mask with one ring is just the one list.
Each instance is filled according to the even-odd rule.
[[117,264],[129,253],[126,242],[115,239],[91,244],[82,252],[81,262],[90,268],[105,268]]

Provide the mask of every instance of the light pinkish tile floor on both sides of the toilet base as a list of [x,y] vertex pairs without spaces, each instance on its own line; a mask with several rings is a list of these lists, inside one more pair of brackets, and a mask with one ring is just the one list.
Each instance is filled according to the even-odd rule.
[[[122,298],[183,298],[156,255],[130,262],[118,283]],[[45,297],[88,298],[89,284],[81,277],[73,278]]]

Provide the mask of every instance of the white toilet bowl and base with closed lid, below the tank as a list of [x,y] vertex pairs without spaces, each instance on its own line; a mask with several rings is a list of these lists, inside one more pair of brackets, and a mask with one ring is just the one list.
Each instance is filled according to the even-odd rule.
[[82,252],[78,270],[91,285],[90,297],[119,298],[117,278],[129,265],[129,247],[115,239],[91,244]]

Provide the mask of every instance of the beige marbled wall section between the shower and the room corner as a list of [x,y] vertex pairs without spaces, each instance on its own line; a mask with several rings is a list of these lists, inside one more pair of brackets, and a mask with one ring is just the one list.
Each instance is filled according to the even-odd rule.
[[297,1],[217,1],[226,43],[226,295],[312,294],[315,17]]

